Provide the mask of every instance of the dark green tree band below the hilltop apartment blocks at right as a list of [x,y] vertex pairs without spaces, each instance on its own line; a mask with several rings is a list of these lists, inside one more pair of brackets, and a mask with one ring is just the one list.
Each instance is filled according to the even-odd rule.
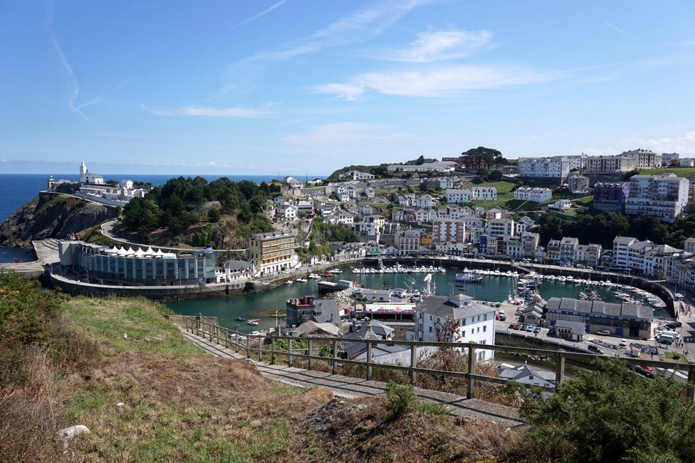
[[595,243],[604,249],[612,249],[616,236],[649,239],[657,244],[682,248],[687,237],[695,236],[695,217],[677,219],[673,224],[641,215],[605,214],[594,211],[579,214],[575,218],[557,214],[542,214],[539,218],[541,243],[550,239],[575,237],[582,244]]

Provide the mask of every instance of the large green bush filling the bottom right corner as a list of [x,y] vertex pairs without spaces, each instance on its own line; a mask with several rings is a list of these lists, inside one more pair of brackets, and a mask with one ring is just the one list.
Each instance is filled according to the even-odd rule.
[[[647,380],[617,360],[597,360],[552,396],[530,396],[534,461],[680,462],[695,455],[695,408],[672,378]],[[552,438],[551,438],[552,437]]]

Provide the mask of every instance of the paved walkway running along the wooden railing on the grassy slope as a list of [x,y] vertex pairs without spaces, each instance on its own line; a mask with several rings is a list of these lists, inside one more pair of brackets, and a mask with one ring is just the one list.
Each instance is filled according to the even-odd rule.
[[[186,339],[212,355],[246,360],[245,355],[235,353],[233,350],[225,348],[220,344],[215,344],[209,339],[203,339],[183,330],[182,332]],[[322,371],[287,367],[286,365],[270,365],[255,360],[247,360],[247,362],[251,362],[265,378],[278,380],[296,387],[322,387],[333,392],[338,397],[360,398],[386,394],[386,383],[381,381],[367,381],[349,376],[332,375]],[[518,410],[514,407],[506,407],[505,405],[498,405],[475,398],[468,399],[455,394],[430,391],[428,389],[416,388],[415,394],[424,401],[444,405],[453,416],[483,419],[498,423],[500,426],[512,428],[525,423],[519,418]]]

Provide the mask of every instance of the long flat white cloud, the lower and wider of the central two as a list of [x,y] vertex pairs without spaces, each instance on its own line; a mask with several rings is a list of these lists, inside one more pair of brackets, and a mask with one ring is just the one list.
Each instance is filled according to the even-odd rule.
[[348,83],[316,87],[317,93],[357,99],[371,91],[394,96],[459,96],[469,90],[492,90],[553,81],[555,74],[513,67],[459,65],[430,71],[362,74]]

